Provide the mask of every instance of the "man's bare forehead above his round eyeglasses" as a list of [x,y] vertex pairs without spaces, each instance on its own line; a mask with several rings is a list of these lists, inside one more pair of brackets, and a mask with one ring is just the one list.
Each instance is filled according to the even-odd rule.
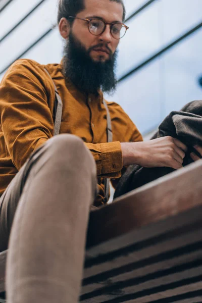
[[121,3],[110,0],[84,0],[85,9],[78,14],[79,17],[97,16],[108,22],[123,19],[123,6]]

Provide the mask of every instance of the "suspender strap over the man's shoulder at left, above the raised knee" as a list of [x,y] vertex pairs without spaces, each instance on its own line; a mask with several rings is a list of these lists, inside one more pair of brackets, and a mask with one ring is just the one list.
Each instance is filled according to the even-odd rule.
[[51,75],[48,73],[48,71],[45,69],[46,73],[48,76],[51,78],[54,88],[55,88],[55,94],[56,94],[56,99],[55,99],[55,109],[56,109],[56,117],[55,117],[55,123],[54,123],[54,136],[59,135],[60,133],[60,126],[61,126],[61,120],[62,120],[62,111],[63,111],[63,103],[62,99],[59,95],[58,89],[56,87],[56,84],[54,83]]

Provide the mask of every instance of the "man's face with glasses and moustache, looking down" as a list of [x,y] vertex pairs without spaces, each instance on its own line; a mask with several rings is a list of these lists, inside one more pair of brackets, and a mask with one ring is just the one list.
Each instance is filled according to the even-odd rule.
[[[101,18],[106,22],[122,22],[123,6],[110,0],[84,0],[85,9],[77,14],[78,18]],[[110,32],[110,25],[107,25],[105,32],[95,36],[88,30],[88,23],[75,19],[72,25],[72,34],[89,52],[90,58],[94,62],[106,62],[115,53],[119,40],[115,39]],[[100,51],[102,47],[106,50]]]

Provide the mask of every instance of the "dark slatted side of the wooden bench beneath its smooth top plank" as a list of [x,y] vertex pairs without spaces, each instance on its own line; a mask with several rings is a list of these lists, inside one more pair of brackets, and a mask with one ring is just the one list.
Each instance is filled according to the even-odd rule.
[[[183,301],[183,293],[192,290],[195,292],[187,295],[191,296],[190,302],[197,302],[196,291],[200,292],[202,289],[201,216],[202,206],[140,228],[140,237],[150,233],[153,238],[148,246],[136,241],[134,231],[127,235],[128,246],[125,246],[125,243],[122,246],[121,237],[116,238],[119,250],[112,251],[115,239],[103,242],[99,247],[92,247],[89,252],[94,257],[88,258],[85,263],[80,302],[127,302],[130,295],[130,303],[147,302],[144,293],[149,295],[148,302],[152,301],[151,298],[156,300],[169,296],[170,302],[174,302],[172,296],[182,295]],[[160,227],[164,227],[164,234],[166,228],[168,233],[171,233],[171,230],[173,233],[162,239]],[[153,230],[156,241],[150,229]],[[146,241],[149,243],[149,239]],[[104,255],[98,256],[97,250],[102,250],[105,245],[111,247],[109,255],[105,252]],[[88,254],[88,251],[86,253]]]

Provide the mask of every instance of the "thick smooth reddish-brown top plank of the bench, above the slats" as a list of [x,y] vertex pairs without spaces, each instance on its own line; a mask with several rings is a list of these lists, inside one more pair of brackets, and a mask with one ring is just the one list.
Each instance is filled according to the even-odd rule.
[[91,212],[87,247],[201,205],[201,196],[202,160]]

